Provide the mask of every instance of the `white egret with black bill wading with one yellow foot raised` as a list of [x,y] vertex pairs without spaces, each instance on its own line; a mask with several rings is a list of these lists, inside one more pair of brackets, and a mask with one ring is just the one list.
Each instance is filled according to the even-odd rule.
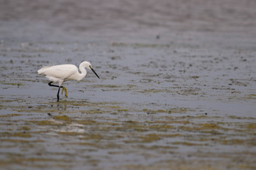
[[[43,67],[42,69],[38,70],[38,74],[43,74],[48,80],[50,80],[48,83],[49,86],[55,86],[59,88],[57,91],[57,101],[59,101],[60,88],[62,88],[62,93],[63,90],[65,91],[65,96],[67,97],[67,89],[65,86],[62,86],[62,83],[68,80],[80,81],[87,75],[87,70],[85,68],[90,69],[92,72],[94,72],[96,77],[99,78],[98,74],[96,74],[94,69],[92,69],[89,62],[82,62],[79,65],[79,70],[81,73],[78,72],[78,68],[73,64],[61,64],[50,67]],[[59,83],[59,86],[53,85],[52,83]]]

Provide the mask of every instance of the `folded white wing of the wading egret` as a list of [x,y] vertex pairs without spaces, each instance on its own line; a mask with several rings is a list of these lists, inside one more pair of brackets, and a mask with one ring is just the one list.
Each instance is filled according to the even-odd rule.
[[38,74],[45,74],[48,77],[55,77],[57,79],[68,79],[72,74],[78,72],[78,69],[73,64],[55,65],[52,67],[43,67],[38,70]]

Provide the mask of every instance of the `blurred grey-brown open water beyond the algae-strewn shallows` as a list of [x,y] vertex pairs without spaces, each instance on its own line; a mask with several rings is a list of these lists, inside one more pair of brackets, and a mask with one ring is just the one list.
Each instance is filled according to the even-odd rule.
[[1,0],[0,38],[163,38],[181,33],[255,38],[255,8],[253,0]]

